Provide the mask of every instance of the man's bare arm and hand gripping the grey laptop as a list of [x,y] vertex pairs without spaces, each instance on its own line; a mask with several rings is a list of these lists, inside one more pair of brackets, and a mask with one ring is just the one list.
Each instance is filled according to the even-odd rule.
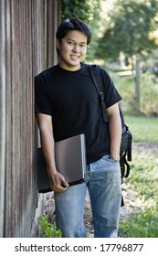
[[50,188],[56,192],[64,191],[67,189],[68,183],[56,169],[52,117],[47,114],[37,113],[37,123],[41,146],[47,163]]

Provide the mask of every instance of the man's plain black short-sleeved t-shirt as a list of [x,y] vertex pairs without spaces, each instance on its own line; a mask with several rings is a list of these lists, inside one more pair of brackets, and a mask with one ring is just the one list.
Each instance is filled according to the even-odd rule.
[[[110,75],[100,68],[105,104],[121,101]],[[52,116],[55,142],[85,133],[87,163],[110,153],[108,123],[103,122],[100,98],[87,64],[77,71],[58,65],[46,69],[35,78],[35,111]]]

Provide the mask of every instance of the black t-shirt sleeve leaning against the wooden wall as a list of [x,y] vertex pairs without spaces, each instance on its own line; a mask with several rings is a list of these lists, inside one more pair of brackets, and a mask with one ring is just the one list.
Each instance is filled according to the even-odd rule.
[[51,115],[47,83],[42,75],[35,77],[35,112]]

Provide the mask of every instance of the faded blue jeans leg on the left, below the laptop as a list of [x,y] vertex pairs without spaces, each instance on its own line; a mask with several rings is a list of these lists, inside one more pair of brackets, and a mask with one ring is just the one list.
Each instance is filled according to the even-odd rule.
[[84,205],[87,185],[81,183],[55,193],[56,223],[64,238],[84,238]]

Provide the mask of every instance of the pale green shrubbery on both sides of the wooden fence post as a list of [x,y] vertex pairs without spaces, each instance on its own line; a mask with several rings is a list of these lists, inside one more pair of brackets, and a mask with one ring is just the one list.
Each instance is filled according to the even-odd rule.
[[[133,76],[119,76],[113,73],[117,90],[121,93],[121,109],[124,113],[135,115],[135,83]],[[158,116],[158,78],[150,72],[142,73],[140,79],[140,112],[145,116]]]

